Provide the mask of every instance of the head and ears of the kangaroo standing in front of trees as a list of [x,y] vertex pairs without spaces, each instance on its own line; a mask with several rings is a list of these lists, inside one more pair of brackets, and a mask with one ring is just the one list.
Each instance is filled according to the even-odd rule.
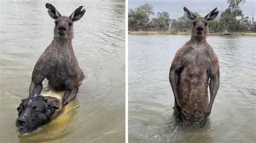
[[218,16],[219,11],[217,8],[208,13],[205,17],[197,17],[193,12],[188,10],[186,7],[183,8],[187,12],[187,18],[193,20],[192,26],[192,38],[205,39],[208,35],[208,22]]

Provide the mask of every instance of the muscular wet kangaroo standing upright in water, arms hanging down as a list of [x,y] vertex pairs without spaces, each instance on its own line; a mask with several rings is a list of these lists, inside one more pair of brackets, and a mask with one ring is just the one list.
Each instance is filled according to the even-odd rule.
[[184,7],[188,19],[193,20],[192,35],[177,51],[169,73],[175,99],[173,116],[184,123],[198,123],[200,127],[205,126],[219,89],[218,57],[206,42],[208,22],[218,16],[219,11],[216,10],[217,8],[205,17],[197,17]]

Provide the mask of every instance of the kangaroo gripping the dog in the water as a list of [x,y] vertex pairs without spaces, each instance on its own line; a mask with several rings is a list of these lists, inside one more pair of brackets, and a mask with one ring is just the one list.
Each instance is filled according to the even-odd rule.
[[[46,78],[55,91],[65,90],[62,103],[68,104],[76,98],[79,85],[84,79],[83,71],[73,52],[73,22],[83,17],[83,6],[77,8],[69,17],[62,16],[57,9],[46,3],[45,7],[52,19],[55,19],[54,38],[39,57],[32,72],[29,97],[38,96]],[[82,11],[81,11],[82,10]]]

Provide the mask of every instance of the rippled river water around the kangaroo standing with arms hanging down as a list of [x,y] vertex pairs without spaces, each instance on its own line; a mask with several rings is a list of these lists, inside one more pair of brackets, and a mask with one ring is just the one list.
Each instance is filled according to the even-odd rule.
[[256,37],[209,36],[220,87],[204,128],[172,117],[169,69],[189,35],[129,35],[129,142],[256,142]]

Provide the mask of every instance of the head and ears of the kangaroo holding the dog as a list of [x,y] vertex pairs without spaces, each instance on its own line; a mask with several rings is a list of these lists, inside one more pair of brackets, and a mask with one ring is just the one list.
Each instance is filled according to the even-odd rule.
[[78,21],[84,16],[85,9],[82,10],[83,6],[77,8],[69,17],[60,15],[58,10],[49,3],[46,3],[45,7],[49,9],[48,13],[50,17],[55,19],[54,37],[61,39],[72,39],[73,22]]

